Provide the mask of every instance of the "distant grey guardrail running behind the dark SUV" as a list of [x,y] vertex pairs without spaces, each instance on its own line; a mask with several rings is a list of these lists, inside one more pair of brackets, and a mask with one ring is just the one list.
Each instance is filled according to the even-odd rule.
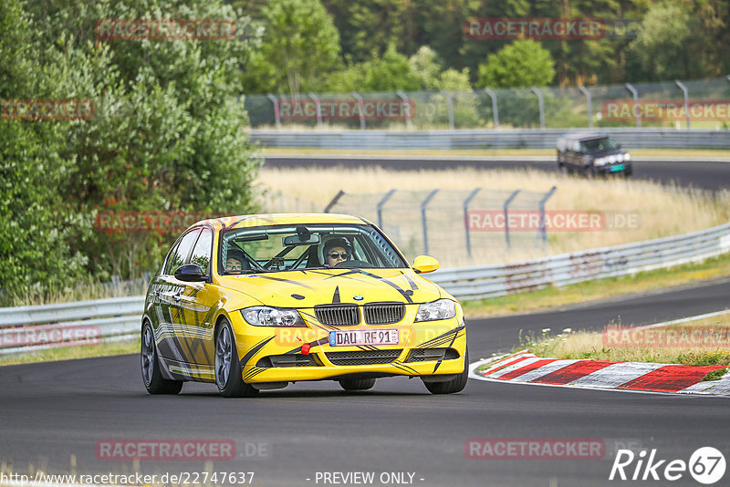
[[[546,130],[251,130],[263,147],[318,149],[555,149],[558,138],[585,129]],[[626,149],[727,149],[730,130],[600,129]]]

